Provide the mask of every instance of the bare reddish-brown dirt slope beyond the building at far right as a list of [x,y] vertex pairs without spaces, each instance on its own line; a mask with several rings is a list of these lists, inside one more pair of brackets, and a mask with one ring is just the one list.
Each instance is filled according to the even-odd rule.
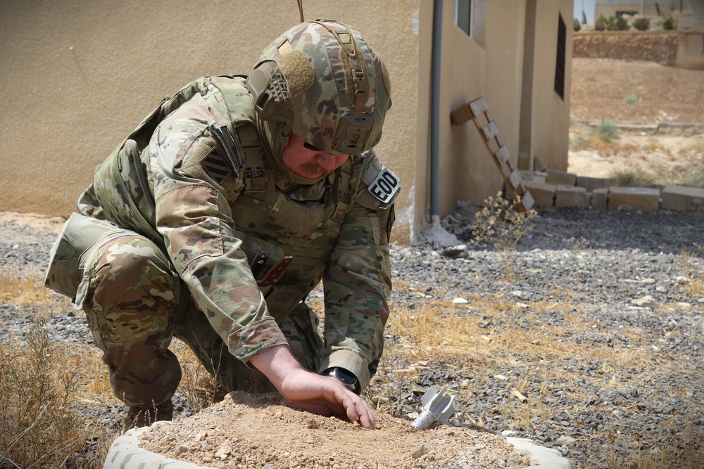
[[[688,174],[704,172],[703,71],[573,58],[571,90],[568,172],[630,173],[661,185],[682,184]],[[619,129],[611,142],[593,137],[600,122]],[[580,140],[589,146],[579,146]]]

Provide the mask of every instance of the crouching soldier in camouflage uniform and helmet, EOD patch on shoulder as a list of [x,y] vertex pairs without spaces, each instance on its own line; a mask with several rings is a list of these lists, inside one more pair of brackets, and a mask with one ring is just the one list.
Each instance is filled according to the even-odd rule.
[[[248,76],[165,98],[96,169],[46,285],[85,311],[123,431],[172,418],[174,336],[228,392],[375,428],[358,394],[389,314],[401,184],[371,149],[389,91],[359,32],[301,23]],[[321,280],[324,340],[304,302]]]

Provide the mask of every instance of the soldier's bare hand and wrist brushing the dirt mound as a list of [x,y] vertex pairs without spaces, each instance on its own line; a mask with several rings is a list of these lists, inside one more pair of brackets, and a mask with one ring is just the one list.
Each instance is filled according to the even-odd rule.
[[360,397],[330,376],[304,370],[288,347],[279,345],[254,356],[250,363],[264,373],[284,397],[282,404],[322,416],[336,416],[376,427],[374,415]]

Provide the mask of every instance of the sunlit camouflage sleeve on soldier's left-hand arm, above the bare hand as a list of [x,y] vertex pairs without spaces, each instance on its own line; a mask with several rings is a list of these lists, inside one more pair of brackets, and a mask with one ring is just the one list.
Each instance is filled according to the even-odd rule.
[[241,240],[234,236],[230,204],[208,181],[184,172],[189,159],[213,150],[210,110],[196,96],[158,127],[149,146],[156,228],[177,273],[210,325],[242,361],[286,344],[269,315]]

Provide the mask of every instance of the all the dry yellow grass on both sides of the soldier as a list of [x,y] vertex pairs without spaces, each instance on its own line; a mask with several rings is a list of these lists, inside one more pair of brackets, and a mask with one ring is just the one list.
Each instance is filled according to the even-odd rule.
[[[584,240],[564,242],[571,248],[570,256],[576,265],[582,255]],[[696,245],[696,250],[702,250],[702,247]],[[700,257],[695,252],[686,250],[678,257],[684,272],[680,290],[683,301],[704,294],[704,274],[698,259]],[[47,295],[41,283],[42,278],[37,275],[20,278],[16,273],[6,272],[0,276],[0,298],[4,302],[44,304],[50,308],[56,298]],[[396,281],[395,288],[412,289],[402,281]],[[386,347],[379,365],[379,370],[385,373],[379,373],[375,380],[383,383],[386,375],[386,380],[393,376],[394,382],[401,379],[413,383],[430,364],[442,363],[454,375],[472,377],[463,384],[458,396],[458,402],[465,403],[479,400],[477,396],[498,381],[503,387],[503,400],[492,412],[510,416],[513,425],[530,432],[564,411],[577,415],[587,411],[584,403],[596,396],[586,394],[584,390],[589,387],[578,385],[580,380],[586,380],[594,387],[623,390],[633,384],[628,380],[628,370],[643,370],[639,380],[648,380],[658,379],[657,375],[650,375],[651,371],[682,366],[681,357],[675,354],[665,354],[665,361],[662,355],[656,358],[650,349],[651,338],[637,326],[622,330],[631,347],[610,347],[605,341],[579,344],[566,340],[586,331],[593,335],[599,325],[589,320],[589,315],[580,306],[579,295],[569,288],[556,287],[553,293],[555,300],[551,302],[521,304],[501,295],[465,295],[467,304],[433,300],[433,306],[420,309],[396,307],[386,329],[394,340]],[[667,305],[662,307],[667,309]],[[49,309],[43,311],[39,314],[39,321],[41,317],[49,316]],[[552,320],[545,321],[546,316],[552,316]],[[14,343],[0,346],[0,417],[4,429],[0,434],[0,467],[30,467],[32,462],[25,458],[39,460],[34,467],[62,467],[73,451],[81,449],[85,439],[94,435],[96,458],[80,467],[99,468],[111,444],[111,438],[106,435],[114,437],[114,434],[82,420],[72,409],[77,401],[95,405],[96,397],[103,402],[118,402],[111,392],[107,369],[100,359],[101,352],[87,345],[50,345],[46,333],[42,335],[44,328],[34,330],[36,335],[32,336],[30,347],[18,347]],[[183,342],[174,340],[172,350],[183,370],[178,392],[187,397],[187,409],[196,412],[208,405],[207,399],[203,400],[196,389],[199,376],[207,373]],[[584,375],[569,371],[568,365],[575,363],[593,365],[593,373]],[[521,373],[510,372],[519,367],[523,370]],[[487,373],[491,370],[501,372]],[[378,392],[378,389],[372,387],[375,394],[367,391],[365,396],[377,411],[394,413],[398,397],[394,392],[397,394],[398,390]],[[423,390],[415,391],[420,394]],[[571,397],[574,404],[570,409],[561,409],[552,403],[551,397],[558,391]],[[691,395],[691,390],[686,388],[672,392]],[[645,395],[643,399],[650,397]],[[475,425],[489,423],[484,416],[475,416],[471,411],[465,411],[463,418]],[[608,442],[612,448],[610,456],[600,455],[606,458],[606,467],[617,468],[617,454],[622,454],[624,447],[633,447],[632,454],[635,455],[624,467],[700,467],[698,458],[704,454],[696,446],[689,447],[689,452],[674,454],[668,449],[672,437],[662,437],[661,442],[643,447],[634,432],[628,430],[606,425],[597,432],[596,438]],[[692,429],[691,435],[697,435],[696,431]],[[655,445],[662,447],[658,454],[649,451]],[[34,452],[25,451],[27,447]],[[603,466],[581,469],[596,467]]]

